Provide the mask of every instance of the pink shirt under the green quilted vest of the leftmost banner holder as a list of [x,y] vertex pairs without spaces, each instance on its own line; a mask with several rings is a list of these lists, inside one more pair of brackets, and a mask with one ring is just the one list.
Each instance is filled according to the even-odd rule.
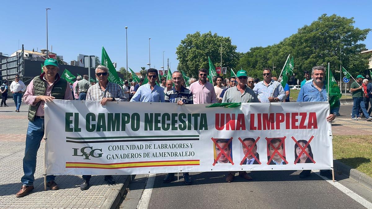
[[[52,87],[54,83],[60,79],[59,75],[57,75],[57,79],[54,81],[53,84],[49,84],[44,77],[44,73],[42,74],[43,80],[47,83],[47,90],[44,93],[44,96],[51,96],[52,93]],[[64,99],[73,100],[73,96],[70,89],[70,84],[66,84],[66,91],[65,91],[65,97]],[[23,100],[26,104],[35,106],[37,102],[35,103],[35,99],[37,96],[35,96],[34,88],[33,88],[33,80],[30,82],[30,84],[27,86],[26,92],[23,95]],[[41,104],[39,105],[38,109],[36,110],[36,116],[44,116],[44,101],[41,101]]]

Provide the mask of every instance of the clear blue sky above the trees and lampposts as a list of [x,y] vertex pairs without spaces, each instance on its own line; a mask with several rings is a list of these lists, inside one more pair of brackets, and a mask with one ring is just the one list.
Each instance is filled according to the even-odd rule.
[[[46,48],[45,8],[48,11],[49,49],[64,61],[77,54],[109,57],[126,66],[125,26],[128,26],[128,66],[135,72],[147,67],[151,38],[151,67],[160,70],[169,58],[177,68],[176,47],[188,33],[230,36],[237,51],[278,43],[309,25],[323,13],[354,17],[355,26],[372,28],[372,1],[2,1],[0,52]],[[366,48],[372,49],[372,32]]]

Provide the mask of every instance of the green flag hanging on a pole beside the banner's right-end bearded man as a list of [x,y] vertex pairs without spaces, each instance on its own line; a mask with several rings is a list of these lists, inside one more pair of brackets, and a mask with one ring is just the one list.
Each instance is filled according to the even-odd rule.
[[329,68],[329,62],[327,70],[328,71],[325,76],[325,87],[327,88],[330,109],[333,109],[340,106],[340,98],[342,94],[340,93],[339,85],[337,85],[336,79],[334,79],[332,71]]

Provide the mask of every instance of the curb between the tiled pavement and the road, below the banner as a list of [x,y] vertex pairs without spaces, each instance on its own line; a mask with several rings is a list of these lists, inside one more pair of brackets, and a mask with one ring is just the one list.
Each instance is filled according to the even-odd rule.
[[123,175],[118,180],[118,184],[116,184],[112,190],[113,193],[116,192],[115,198],[113,199],[106,199],[105,203],[103,203],[102,208],[110,208],[115,209],[116,206],[118,206],[121,198],[124,196],[126,187],[128,187],[128,184],[131,183],[132,179],[134,179],[135,175]]

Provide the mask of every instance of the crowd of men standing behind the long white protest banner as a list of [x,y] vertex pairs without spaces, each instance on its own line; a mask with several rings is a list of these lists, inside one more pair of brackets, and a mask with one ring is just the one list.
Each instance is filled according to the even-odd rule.
[[[198,71],[198,80],[190,78],[188,87],[186,87],[182,73],[179,71],[174,71],[171,80],[166,80],[164,77],[159,79],[158,70],[150,68],[147,71],[148,83],[143,84],[144,78],[141,78],[139,83],[132,81],[132,85],[129,87],[128,81],[124,81],[124,86],[111,83],[108,80],[109,70],[103,65],[97,66],[95,70],[97,83],[93,85],[89,82],[87,75],[78,76],[77,81],[70,85],[67,81],[60,78],[58,61],[54,59],[45,60],[43,69],[44,73],[33,78],[27,89],[23,89],[26,87],[20,84],[11,86],[11,90],[15,92],[13,95],[18,93],[18,91],[25,91],[23,99],[26,104],[30,105],[25,156],[23,158],[24,175],[21,179],[22,187],[17,192],[16,197],[26,196],[33,189],[36,154],[44,135],[44,104],[45,102],[51,102],[53,99],[92,100],[100,101],[101,105],[106,105],[107,102],[111,101],[169,102],[177,103],[177,105],[289,101],[287,100],[289,99],[289,89],[287,92],[286,88],[283,88],[277,81],[278,79],[272,77],[270,68],[263,69],[262,81],[249,77],[246,71],[240,70],[237,72],[236,77],[224,79],[217,76],[212,78],[215,85],[208,82],[208,70],[200,69]],[[324,67],[313,67],[311,77],[312,82],[305,82],[299,92],[297,101],[327,101]],[[17,82],[19,82],[19,78]],[[17,108],[19,109],[19,107]],[[324,117],[328,122],[331,122],[338,114],[338,110],[338,108],[331,109],[330,115],[325,115]],[[364,110],[363,113],[367,114]],[[254,163],[254,160],[247,160],[250,164]],[[300,177],[309,175],[310,171],[302,171]],[[321,175],[331,178],[329,171],[321,171]],[[239,171],[239,176],[248,180],[252,179],[246,171]],[[81,190],[89,189],[90,177],[90,175],[83,175],[83,182],[80,185]],[[172,181],[173,177],[174,173],[167,174],[164,182]],[[234,177],[235,172],[229,172],[226,181],[231,182]],[[186,184],[192,184],[192,178],[189,177],[189,173],[183,173],[183,178]],[[47,186],[51,190],[59,189],[54,179],[53,175],[47,176]],[[105,176],[105,181],[109,184],[115,183],[115,180],[110,175]]]

